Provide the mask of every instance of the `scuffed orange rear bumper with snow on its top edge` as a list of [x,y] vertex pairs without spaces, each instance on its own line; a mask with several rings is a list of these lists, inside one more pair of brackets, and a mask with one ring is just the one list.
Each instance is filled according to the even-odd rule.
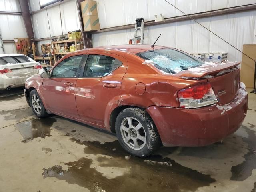
[[198,109],[151,106],[150,114],[164,146],[205,146],[223,140],[242,124],[248,108],[247,92],[224,106]]

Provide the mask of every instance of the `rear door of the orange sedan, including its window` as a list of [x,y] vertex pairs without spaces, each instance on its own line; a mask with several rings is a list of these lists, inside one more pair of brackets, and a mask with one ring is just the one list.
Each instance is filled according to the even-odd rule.
[[90,52],[83,77],[76,82],[76,105],[80,118],[104,126],[107,105],[120,96],[127,61],[121,56]]

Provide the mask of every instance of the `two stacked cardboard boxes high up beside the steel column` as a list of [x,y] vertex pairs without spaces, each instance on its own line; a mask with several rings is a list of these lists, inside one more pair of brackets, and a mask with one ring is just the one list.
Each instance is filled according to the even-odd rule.
[[81,2],[84,31],[100,30],[97,2],[85,0]]

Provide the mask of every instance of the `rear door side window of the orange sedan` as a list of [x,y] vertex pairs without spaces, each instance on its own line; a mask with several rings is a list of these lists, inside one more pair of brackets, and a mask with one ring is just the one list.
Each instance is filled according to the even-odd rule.
[[89,55],[84,69],[84,77],[103,77],[120,67],[122,62],[106,55]]

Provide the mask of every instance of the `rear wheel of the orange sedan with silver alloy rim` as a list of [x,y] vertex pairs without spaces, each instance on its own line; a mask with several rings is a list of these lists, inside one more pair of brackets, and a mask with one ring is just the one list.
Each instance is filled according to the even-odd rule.
[[126,108],[116,118],[116,136],[130,154],[146,157],[160,146],[160,137],[153,120],[141,108]]

